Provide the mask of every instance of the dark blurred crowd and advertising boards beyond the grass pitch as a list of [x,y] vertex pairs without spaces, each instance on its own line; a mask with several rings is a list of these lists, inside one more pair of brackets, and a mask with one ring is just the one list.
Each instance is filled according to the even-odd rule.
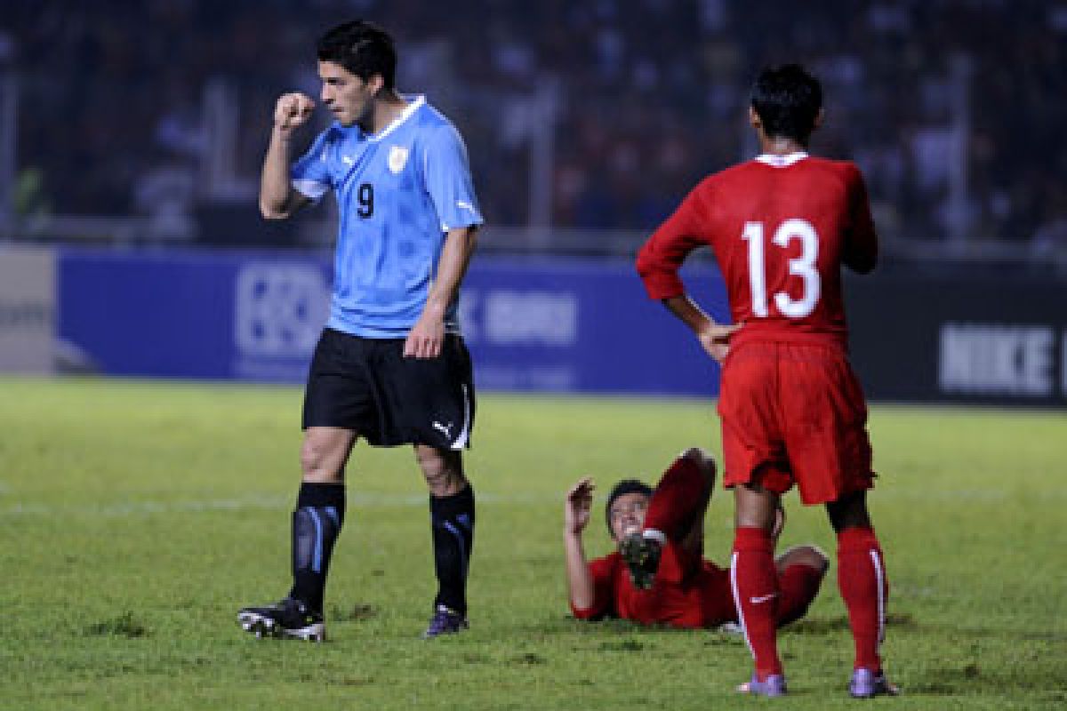
[[[871,397],[1067,402],[1067,3],[1037,1],[5,2],[0,370],[301,381],[333,207],[266,224],[258,164],[353,15],[468,144],[483,389],[715,393],[631,257],[753,155],[751,77],[798,60],[828,97],[813,149],[860,164],[883,239],[847,281]],[[724,314],[711,263],[690,274]]]

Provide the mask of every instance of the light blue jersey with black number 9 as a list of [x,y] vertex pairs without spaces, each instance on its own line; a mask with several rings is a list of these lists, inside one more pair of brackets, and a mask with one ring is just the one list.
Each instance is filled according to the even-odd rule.
[[[291,169],[292,185],[337,197],[340,225],[328,326],[403,338],[426,305],[445,232],[482,223],[466,147],[425,97],[380,132],[335,123]],[[456,303],[445,328],[459,333]]]

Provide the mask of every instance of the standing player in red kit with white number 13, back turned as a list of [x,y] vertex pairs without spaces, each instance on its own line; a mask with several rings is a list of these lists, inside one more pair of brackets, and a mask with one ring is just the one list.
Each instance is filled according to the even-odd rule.
[[[730,576],[755,660],[738,690],[785,693],[773,528],[779,497],[795,484],[806,504],[826,505],[837,532],[838,584],[856,643],[849,691],[869,697],[896,690],[879,656],[889,588],[866,507],[866,403],[848,362],[841,268],[871,272],[878,248],[859,169],[807,152],[822,98],[798,65],[761,72],[749,120],[762,155],[700,182],[641,248],[637,270],[649,295],[722,363],[723,483],[736,505]],[[679,278],[703,245],[722,272],[734,325],[715,323]],[[632,542],[627,563],[654,565],[657,537],[647,530]]]

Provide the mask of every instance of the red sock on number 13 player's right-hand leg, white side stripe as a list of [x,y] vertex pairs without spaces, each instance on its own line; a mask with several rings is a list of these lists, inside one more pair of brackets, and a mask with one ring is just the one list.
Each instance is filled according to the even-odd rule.
[[874,531],[848,528],[838,533],[838,588],[848,608],[856,642],[855,668],[881,669],[878,646],[886,634],[889,581]]

